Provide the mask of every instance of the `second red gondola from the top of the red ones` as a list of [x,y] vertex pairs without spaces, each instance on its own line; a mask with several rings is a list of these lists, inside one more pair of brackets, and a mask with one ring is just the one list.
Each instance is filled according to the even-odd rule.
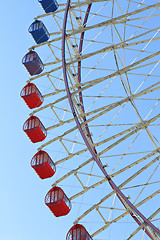
[[47,131],[45,127],[43,126],[39,118],[35,116],[31,116],[25,121],[23,125],[23,131],[27,134],[27,136],[33,143],[41,142],[47,136]]

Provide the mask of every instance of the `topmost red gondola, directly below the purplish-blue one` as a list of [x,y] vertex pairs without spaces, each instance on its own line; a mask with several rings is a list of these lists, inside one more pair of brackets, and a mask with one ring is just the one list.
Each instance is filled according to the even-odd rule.
[[33,83],[28,83],[21,91],[20,96],[30,109],[39,107],[43,103],[43,96]]

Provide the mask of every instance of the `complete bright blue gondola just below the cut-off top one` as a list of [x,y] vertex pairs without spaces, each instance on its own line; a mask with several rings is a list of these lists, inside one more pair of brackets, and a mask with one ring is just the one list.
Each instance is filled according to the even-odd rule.
[[39,20],[36,20],[30,25],[28,32],[32,35],[37,44],[47,41],[50,37],[47,28]]

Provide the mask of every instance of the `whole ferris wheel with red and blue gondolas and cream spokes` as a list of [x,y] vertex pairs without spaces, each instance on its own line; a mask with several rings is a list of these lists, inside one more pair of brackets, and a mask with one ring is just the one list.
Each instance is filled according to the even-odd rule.
[[38,0],[22,63],[31,166],[67,240],[160,239],[160,2]]

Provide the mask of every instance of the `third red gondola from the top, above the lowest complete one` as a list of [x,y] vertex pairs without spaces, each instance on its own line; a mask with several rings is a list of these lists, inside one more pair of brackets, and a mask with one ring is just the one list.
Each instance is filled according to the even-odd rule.
[[52,177],[56,171],[55,164],[45,151],[39,151],[33,156],[31,167],[41,179]]

